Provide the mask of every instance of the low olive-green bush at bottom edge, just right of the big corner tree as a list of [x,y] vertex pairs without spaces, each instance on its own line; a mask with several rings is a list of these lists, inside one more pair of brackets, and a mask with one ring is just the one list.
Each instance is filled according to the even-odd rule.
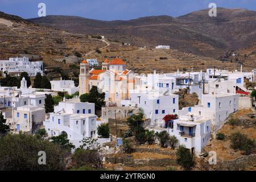
[[102,157],[97,150],[84,150],[77,148],[77,150],[72,155],[72,163],[76,168],[102,168]]

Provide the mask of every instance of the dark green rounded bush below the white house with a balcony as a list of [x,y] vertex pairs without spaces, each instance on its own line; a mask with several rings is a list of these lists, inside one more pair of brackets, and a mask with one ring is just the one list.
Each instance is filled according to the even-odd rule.
[[192,154],[185,146],[179,146],[176,151],[177,163],[183,168],[189,170],[195,165],[195,155]]

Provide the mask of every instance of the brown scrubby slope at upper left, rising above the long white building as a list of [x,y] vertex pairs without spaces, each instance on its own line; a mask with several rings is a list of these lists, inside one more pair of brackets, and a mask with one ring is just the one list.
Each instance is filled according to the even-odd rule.
[[83,54],[105,46],[86,35],[54,30],[2,12],[0,40],[0,60],[20,54],[39,55],[48,65],[65,54],[73,55],[76,51]]

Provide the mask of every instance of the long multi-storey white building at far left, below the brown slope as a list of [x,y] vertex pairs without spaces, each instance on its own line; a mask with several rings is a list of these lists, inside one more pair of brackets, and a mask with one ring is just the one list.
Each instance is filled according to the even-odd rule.
[[29,76],[36,76],[36,73],[43,75],[43,61],[31,62],[28,57],[10,57],[9,60],[0,60],[0,69],[11,76],[20,76],[22,72],[27,72]]

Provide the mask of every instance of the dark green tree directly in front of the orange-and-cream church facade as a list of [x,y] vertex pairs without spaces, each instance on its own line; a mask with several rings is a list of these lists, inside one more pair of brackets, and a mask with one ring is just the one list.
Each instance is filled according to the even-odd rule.
[[101,110],[101,107],[104,107],[105,102],[105,93],[99,93],[97,86],[92,86],[89,94],[82,94],[80,96],[81,102],[90,102],[95,104],[95,110]]

